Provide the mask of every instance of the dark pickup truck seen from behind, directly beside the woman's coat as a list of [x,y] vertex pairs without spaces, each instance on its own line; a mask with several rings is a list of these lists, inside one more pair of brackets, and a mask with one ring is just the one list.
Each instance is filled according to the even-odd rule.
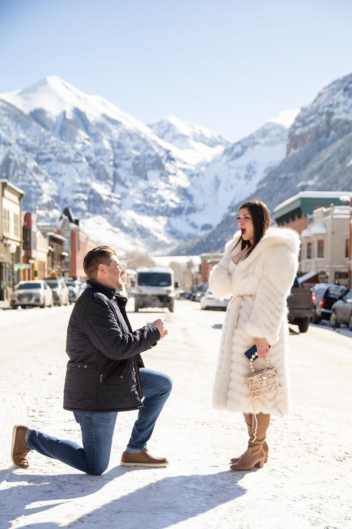
[[289,323],[298,325],[300,332],[307,332],[312,316],[313,292],[311,288],[302,288],[298,277],[293,282],[291,294],[287,298]]

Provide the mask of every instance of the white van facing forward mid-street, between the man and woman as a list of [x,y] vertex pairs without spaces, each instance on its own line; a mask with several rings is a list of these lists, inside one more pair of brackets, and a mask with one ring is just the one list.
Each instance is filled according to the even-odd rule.
[[135,312],[140,308],[167,307],[174,312],[175,288],[172,268],[137,268]]

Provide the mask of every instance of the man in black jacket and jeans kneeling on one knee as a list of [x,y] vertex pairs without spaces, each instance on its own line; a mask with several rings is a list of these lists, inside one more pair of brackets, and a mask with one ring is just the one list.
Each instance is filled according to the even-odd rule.
[[164,322],[156,320],[132,332],[127,299],[116,294],[125,270],[114,250],[108,246],[94,248],[85,256],[83,268],[89,279],[69,321],[66,353],[70,360],[63,406],[73,412],[81,426],[83,448],[16,425],[12,461],[26,469],[27,453],[36,450],[88,474],[100,475],[109,464],[117,413],[139,409],[121,465],[165,467],[167,459],[153,457],[146,447],[172,380],[146,369],[140,357],[167,334]]

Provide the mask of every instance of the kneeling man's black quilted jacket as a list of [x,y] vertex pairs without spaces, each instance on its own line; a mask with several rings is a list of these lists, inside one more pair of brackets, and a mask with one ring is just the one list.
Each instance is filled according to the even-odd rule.
[[142,408],[140,353],[160,339],[156,325],[132,332],[127,299],[89,279],[73,308],[67,330],[63,407],[79,412]]

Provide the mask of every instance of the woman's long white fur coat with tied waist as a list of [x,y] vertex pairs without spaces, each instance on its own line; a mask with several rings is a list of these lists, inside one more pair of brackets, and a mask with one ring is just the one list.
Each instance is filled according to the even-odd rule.
[[[254,338],[266,338],[271,345],[270,365],[277,369],[281,387],[275,393],[255,398],[256,413],[287,414],[289,411],[287,296],[298,268],[300,239],[288,228],[272,227],[252,253],[237,265],[232,257],[241,250],[237,232],[226,244],[225,256],[213,268],[209,285],[218,298],[230,298],[222,330],[215,377],[215,408],[253,413],[246,375],[250,362],[244,352]],[[265,360],[255,360],[255,370],[264,369]]]

